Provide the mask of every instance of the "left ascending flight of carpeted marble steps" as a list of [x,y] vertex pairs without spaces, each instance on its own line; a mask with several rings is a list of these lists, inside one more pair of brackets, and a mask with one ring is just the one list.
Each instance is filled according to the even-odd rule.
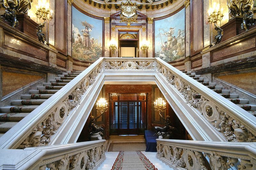
[[68,71],[58,75],[55,80],[37,86],[29,94],[21,95],[20,100],[11,101],[10,106],[1,107],[0,137],[80,73],[82,71]]

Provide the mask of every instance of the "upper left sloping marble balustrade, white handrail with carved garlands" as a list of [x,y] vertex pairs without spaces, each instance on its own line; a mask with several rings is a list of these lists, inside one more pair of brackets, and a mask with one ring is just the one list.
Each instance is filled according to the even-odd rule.
[[99,58],[5,133],[0,140],[0,149],[47,145],[68,114],[75,111],[82,95],[86,94],[102,73],[102,62],[103,58]]

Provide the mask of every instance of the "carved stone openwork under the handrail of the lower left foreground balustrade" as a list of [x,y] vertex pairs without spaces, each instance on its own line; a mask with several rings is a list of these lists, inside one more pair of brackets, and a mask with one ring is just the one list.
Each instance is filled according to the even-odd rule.
[[73,152],[58,158],[47,159],[41,162],[39,169],[93,169],[100,160],[106,158],[104,150],[103,144],[89,150],[82,150],[79,153]]

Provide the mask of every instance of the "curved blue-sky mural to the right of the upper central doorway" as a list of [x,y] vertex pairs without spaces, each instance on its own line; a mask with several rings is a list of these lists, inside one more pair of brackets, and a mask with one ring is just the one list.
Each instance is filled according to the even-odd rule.
[[185,8],[155,20],[155,57],[166,62],[185,58]]

